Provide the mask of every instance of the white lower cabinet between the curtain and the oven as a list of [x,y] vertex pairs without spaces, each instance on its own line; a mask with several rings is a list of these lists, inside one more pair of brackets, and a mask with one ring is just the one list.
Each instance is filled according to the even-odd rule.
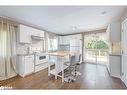
[[34,72],[34,55],[18,55],[17,71],[22,77]]

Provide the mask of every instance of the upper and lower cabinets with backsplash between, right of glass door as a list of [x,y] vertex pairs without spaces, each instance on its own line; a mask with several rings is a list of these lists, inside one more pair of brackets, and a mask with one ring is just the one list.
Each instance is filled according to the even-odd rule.
[[111,76],[118,78],[121,75],[120,29],[120,22],[113,22],[109,24],[106,31],[109,43],[107,68]]

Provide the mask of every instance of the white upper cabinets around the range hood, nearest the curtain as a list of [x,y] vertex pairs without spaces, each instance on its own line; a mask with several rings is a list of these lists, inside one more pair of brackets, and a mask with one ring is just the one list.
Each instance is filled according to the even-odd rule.
[[17,38],[19,43],[31,43],[31,36],[44,37],[44,31],[38,30],[25,25],[19,25]]

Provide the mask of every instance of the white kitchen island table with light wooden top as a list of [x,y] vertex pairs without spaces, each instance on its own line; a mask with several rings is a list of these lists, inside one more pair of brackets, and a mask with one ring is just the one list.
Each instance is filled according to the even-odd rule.
[[[68,57],[69,55],[75,55],[75,52],[67,52],[67,51],[57,51],[57,52],[48,52],[47,53],[49,56],[49,62],[48,62],[48,76],[50,76],[50,74],[55,75],[55,79],[57,79],[57,77],[61,77],[62,78],[62,82],[64,82],[64,70],[68,67],[66,65],[64,65],[64,63],[66,62],[65,58]],[[51,70],[51,63],[50,63],[50,57],[51,56],[55,56],[57,57],[57,61],[55,62],[55,68]],[[59,73],[62,73],[61,75]]]

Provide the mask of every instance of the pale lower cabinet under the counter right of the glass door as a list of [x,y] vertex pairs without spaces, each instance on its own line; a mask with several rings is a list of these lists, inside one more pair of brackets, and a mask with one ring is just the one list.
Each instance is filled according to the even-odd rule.
[[121,75],[121,56],[109,55],[108,70],[111,76],[120,78]]

